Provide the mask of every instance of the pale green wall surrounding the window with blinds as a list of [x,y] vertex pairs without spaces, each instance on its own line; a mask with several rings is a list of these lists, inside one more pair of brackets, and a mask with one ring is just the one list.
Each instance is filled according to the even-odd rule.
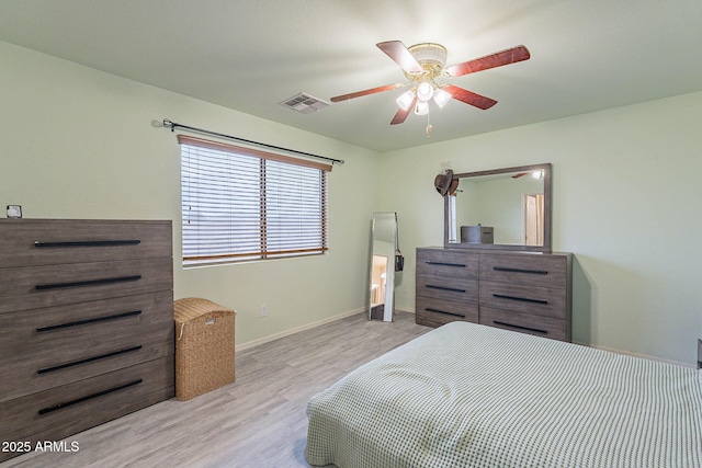
[[238,344],[364,307],[373,151],[7,43],[0,83],[0,205],[20,204],[27,218],[171,219],[176,258],[180,147],[151,119],[346,160],[329,174],[329,254],[188,271],[176,260],[174,295],[237,309]]

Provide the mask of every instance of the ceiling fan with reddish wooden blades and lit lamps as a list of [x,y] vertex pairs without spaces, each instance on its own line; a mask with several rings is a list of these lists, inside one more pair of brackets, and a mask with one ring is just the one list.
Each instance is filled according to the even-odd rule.
[[[446,67],[446,48],[440,44],[424,43],[406,47],[400,41],[388,41],[378,43],[376,46],[400,66],[409,81],[337,95],[331,98],[331,102],[348,101],[354,98],[411,85],[412,88],[410,90],[397,98],[396,101],[399,110],[390,121],[390,125],[404,123],[412,111],[417,115],[427,115],[429,113],[429,102],[432,100],[439,107],[443,107],[451,99],[455,99],[482,110],[490,109],[497,104],[497,101],[494,99],[453,84],[438,84],[437,79],[455,78],[475,73],[489,68],[526,60],[530,57],[526,47],[519,45],[485,57]],[[428,126],[427,134],[429,134],[430,129],[431,126]]]

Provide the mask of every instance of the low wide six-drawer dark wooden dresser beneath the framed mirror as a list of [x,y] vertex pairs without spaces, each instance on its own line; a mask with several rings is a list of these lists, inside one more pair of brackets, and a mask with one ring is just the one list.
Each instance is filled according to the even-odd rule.
[[569,253],[417,249],[417,323],[466,320],[570,341]]

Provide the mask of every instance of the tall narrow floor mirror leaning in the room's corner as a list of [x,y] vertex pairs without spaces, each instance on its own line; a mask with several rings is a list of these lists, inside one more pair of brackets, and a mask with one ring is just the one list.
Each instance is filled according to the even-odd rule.
[[397,214],[374,213],[371,244],[369,319],[393,321]]

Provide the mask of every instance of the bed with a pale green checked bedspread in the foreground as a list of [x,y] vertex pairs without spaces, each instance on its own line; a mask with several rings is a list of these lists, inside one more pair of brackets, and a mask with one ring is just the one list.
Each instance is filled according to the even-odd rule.
[[310,465],[702,467],[692,368],[452,322],[307,406]]

